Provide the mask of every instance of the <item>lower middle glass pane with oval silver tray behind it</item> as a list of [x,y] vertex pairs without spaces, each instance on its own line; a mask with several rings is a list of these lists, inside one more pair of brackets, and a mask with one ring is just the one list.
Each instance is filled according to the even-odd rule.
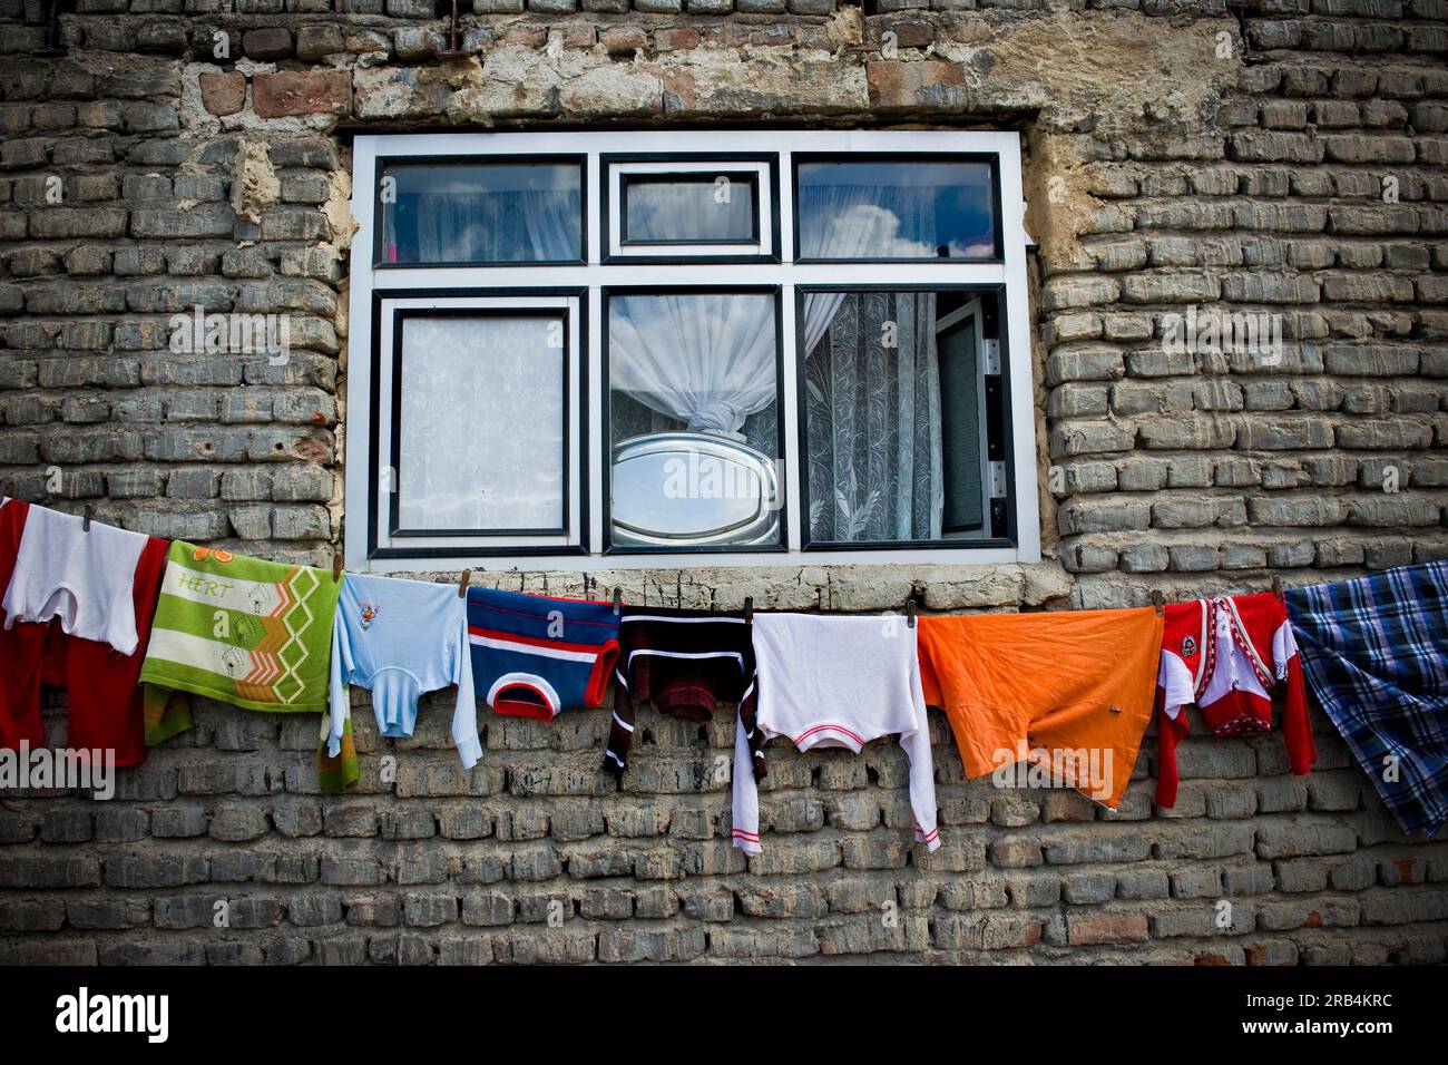
[[608,300],[615,546],[780,542],[778,349],[770,294]]

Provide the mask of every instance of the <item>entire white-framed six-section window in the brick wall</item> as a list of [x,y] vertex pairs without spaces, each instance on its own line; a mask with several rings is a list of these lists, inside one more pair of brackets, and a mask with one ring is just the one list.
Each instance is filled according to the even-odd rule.
[[353,569],[1040,556],[1015,133],[361,136],[355,165]]

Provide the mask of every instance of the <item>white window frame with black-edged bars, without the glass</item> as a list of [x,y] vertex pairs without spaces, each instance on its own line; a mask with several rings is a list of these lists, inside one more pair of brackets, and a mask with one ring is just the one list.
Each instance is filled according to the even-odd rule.
[[[599,188],[599,159],[605,155],[669,154],[698,156],[704,152],[730,154],[778,152],[779,248],[778,262],[604,262]],[[798,264],[794,261],[794,154],[879,152],[899,155],[993,155],[999,187],[1001,262],[834,262]],[[547,265],[502,264],[479,267],[374,265],[374,209],[379,159],[405,156],[479,156],[508,155],[579,155],[584,162],[585,264]],[[1035,456],[1035,403],[1031,380],[1031,333],[1027,307],[1027,233],[1025,203],[1021,185],[1021,138],[1015,132],[956,130],[657,130],[657,132],[527,132],[527,133],[407,133],[365,135],[353,142],[352,213],[359,229],[352,242],[350,306],[348,316],[346,381],[346,500],[352,513],[345,525],[345,561],[356,572],[414,572],[439,568],[476,569],[569,569],[576,572],[627,569],[685,569],[720,567],[799,567],[799,565],[898,565],[898,564],[970,564],[999,565],[1038,562],[1041,558],[1038,477]],[[783,394],[779,397],[785,455],[782,464],[785,491],[785,551],[708,551],[708,552],[604,552],[602,514],[607,491],[605,448],[597,427],[605,425],[602,404],[602,290],[610,287],[730,287],[778,285],[782,290]],[[902,546],[802,551],[805,503],[801,498],[801,455],[798,381],[801,355],[796,352],[796,285],[979,285],[1002,294],[999,319],[1005,348],[1002,385],[1008,410],[1006,454],[1011,459],[1015,542],[977,546]],[[418,297],[418,291],[427,294]],[[584,293],[582,329],[571,330],[584,351],[575,359],[582,371],[582,387],[572,396],[582,398],[575,449],[571,464],[582,467],[575,481],[582,487],[581,506],[573,509],[584,525],[586,548],[556,549],[546,545],[495,554],[495,538],[452,543],[446,554],[407,554],[381,556],[369,545],[368,510],[381,507],[381,485],[372,481],[374,425],[372,409],[390,403],[376,397],[372,378],[374,346],[379,343],[376,307],[401,297],[413,306],[453,306],[475,293],[485,293],[491,306],[505,301],[507,293],[581,291]],[[439,412],[439,432],[466,432],[466,412]],[[381,532],[381,530],[379,530]],[[436,545],[434,545],[436,546]],[[404,548],[405,551],[405,548]]]

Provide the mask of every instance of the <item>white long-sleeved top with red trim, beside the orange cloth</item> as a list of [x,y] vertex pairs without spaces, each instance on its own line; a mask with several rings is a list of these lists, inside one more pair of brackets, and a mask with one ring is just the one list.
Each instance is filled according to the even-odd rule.
[[[846,748],[859,753],[882,736],[899,736],[909,756],[915,842],[940,848],[935,765],[919,684],[915,629],[901,617],[754,614],[759,667],[759,743],[788,736],[799,751]],[[750,767],[754,740],[734,726],[734,846],[763,851],[759,788]]]

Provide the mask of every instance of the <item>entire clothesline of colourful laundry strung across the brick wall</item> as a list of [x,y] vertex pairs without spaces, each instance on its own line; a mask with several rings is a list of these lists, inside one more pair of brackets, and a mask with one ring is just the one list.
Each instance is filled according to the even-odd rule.
[[[1448,820],[1448,562],[1286,594],[1276,575],[1270,593],[1167,604],[1154,590],[1153,606],[1119,610],[919,614],[912,594],[904,626],[889,613],[756,613],[752,598],[741,611],[626,604],[617,587],[611,603],[536,596],[471,577],[455,593],[340,559],[329,574],[0,500],[0,651],[26,678],[3,693],[0,746],[43,745],[42,674],[71,691],[72,746],[93,740],[119,765],[188,729],[190,698],[204,696],[320,713],[319,782],[336,793],[359,778],[350,685],[372,690],[387,738],[413,735],[420,696],[456,687],[452,736],[472,768],[478,703],[552,720],[599,706],[613,682],[604,768],[620,775],[639,701],[699,720],[737,704],[736,846],[762,848],[767,739],[857,753],[898,736],[915,838],[934,849],[927,704],[946,711],[967,777],[1037,774],[1112,809],[1158,713],[1156,801],[1170,807],[1189,703],[1213,735],[1266,735],[1280,696],[1290,767],[1305,774],[1310,684],[1405,830]],[[114,653],[90,669],[97,649]]]

